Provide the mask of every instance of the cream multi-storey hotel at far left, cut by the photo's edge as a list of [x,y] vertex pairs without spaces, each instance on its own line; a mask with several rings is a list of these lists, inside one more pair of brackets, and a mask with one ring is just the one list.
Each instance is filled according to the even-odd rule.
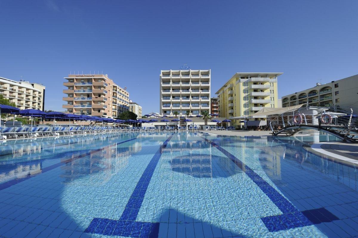
[[20,110],[44,110],[45,86],[28,81],[15,81],[0,77],[0,95],[15,103]]

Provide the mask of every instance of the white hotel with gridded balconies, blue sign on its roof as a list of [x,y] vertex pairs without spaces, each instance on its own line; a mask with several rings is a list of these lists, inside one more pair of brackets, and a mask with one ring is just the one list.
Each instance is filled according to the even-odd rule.
[[210,113],[211,70],[161,70],[160,71],[160,114],[179,112],[185,116]]

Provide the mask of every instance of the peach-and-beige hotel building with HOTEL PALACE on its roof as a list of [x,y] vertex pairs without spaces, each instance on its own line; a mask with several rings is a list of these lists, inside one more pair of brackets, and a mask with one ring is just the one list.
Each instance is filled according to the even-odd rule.
[[129,93],[108,75],[68,75],[64,79],[63,101],[67,103],[62,107],[69,113],[113,118],[129,111]]

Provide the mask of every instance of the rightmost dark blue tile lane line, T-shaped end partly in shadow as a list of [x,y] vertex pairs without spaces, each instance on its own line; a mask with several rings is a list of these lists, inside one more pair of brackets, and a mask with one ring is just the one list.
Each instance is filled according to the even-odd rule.
[[313,224],[319,224],[321,222],[331,222],[338,220],[339,218],[334,216],[325,208],[318,208],[313,210],[307,210],[300,212],[290,201],[284,198],[279,192],[276,191],[269,183],[260,177],[250,167],[245,165],[240,159],[229,153],[227,150],[217,145],[213,141],[202,137],[206,142],[210,143],[213,147],[221,151],[232,162],[242,169],[245,174],[256,183],[256,185],[266,194],[267,197],[281,210],[281,215],[270,216],[261,218],[266,228],[270,232],[287,230],[290,228],[310,226]]

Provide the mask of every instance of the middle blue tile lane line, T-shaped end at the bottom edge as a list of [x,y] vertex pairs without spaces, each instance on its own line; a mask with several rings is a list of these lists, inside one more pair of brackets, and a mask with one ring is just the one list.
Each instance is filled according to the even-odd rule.
[[93,218],[91,224],[84,230],[87,233],[96,233],[112,236],[125,236],[125,237],[148,237],[157,238],[159,232],[159,223],[151,222],[136,222],[145,193],[149,186],[150,179],[153,176],[155,167],[157,166],[163,149],[168,145],[168,142],[173,137],[171,134],[159,150],[154,154],[149,164],[145,168],[142,176],[140,177],[122,216],[119,220],[111,220],[106,218]]

